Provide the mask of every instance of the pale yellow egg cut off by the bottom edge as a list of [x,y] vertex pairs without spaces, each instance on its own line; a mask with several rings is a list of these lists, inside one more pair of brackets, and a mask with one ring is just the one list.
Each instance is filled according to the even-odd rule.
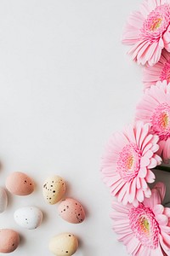
[[49,251],[56,256],[71,256],[78,248],[77,237],[71,233],[62,233],[49,241]]

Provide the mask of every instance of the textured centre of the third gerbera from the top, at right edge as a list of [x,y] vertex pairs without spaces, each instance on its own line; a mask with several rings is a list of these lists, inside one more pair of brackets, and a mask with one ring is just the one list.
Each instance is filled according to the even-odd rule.
[[161,141],[170,137],[170,105],[160,104],[150,118],[152,132],[156,133]]

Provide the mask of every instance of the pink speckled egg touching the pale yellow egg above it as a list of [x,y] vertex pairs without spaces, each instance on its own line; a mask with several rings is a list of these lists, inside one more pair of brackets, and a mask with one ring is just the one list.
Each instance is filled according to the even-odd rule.
[[82,205],[75,199],[65,198],[58,207],[59,216],[67,222],[78,224],[85,218],[85,212]]

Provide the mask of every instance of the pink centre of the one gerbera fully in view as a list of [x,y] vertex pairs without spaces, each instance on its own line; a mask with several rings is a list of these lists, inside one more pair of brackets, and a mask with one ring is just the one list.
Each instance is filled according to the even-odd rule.
[[119,154],[117,160],[117,172],[121,177],[130,181],[139,172],[141,152],[134,143],[127,144]]

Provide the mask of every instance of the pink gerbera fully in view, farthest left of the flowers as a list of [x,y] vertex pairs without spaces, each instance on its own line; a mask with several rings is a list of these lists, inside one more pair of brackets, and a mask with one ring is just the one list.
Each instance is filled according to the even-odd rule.
[[137,122],[123,132],[117,132],[103,158],[104,182],[111,187],[111,194],[117,196],[124,205],[144,201],[150,197],[147,183],[155,181],[151,168],[161,164],[156,154],[158,137],[150,134],[150,125]]

